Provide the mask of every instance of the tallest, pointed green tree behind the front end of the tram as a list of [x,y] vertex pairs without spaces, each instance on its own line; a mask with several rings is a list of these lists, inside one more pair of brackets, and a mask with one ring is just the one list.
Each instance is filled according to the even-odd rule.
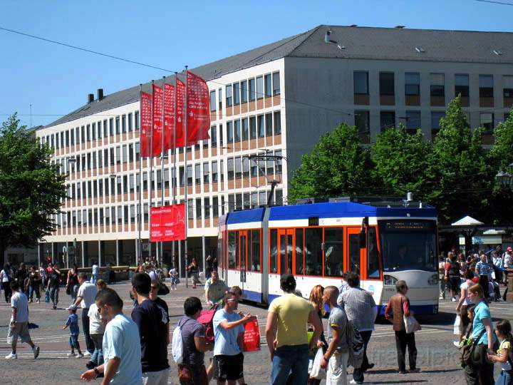
[[492,167],[482,148],[484,130],[472,133],[460,106],[460,97],[447,106],[440,119],[427,168],[431,184],[427,200],[437,208],[442,222],[450,223],[463,215],[487,215],[492,193]]

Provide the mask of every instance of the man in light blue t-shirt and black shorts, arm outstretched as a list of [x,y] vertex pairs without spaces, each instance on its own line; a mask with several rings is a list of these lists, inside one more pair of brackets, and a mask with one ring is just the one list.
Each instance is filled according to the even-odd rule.
[[214,315],[214,378],[217,384],[235,385],[243,376],[244,324],[256,317],[237,313],[239,296],[232,289],[224,297],[224,307]]

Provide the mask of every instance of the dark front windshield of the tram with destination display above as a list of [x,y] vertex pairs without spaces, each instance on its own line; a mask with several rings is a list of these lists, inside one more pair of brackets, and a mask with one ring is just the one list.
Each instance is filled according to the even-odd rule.
[[383,270],[436,271],[436,222],[380,220]]

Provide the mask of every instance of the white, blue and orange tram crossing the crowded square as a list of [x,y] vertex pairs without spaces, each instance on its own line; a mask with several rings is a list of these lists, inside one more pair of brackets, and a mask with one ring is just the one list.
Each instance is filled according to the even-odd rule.
[[294,274],[308,298],[316,284],[339,287],[352,271],[379,314],[400,279],[415,314],[438,312],[437,215],[422,202],[347,197],[234,211],[219,218],[218,242],[222,277],[251,302],[281,295],[281,274]]

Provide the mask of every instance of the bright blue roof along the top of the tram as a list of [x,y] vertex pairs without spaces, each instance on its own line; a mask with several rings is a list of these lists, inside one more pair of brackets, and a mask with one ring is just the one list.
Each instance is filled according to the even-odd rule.
[[[227,224],[261,222],[264,208],[230,212]],[[269,220],[301,220],[309,217],[436,217],[435,207],[386,207],[380,204],[355,202],[326,202],[307,205],[287,205],[270,207]]]

